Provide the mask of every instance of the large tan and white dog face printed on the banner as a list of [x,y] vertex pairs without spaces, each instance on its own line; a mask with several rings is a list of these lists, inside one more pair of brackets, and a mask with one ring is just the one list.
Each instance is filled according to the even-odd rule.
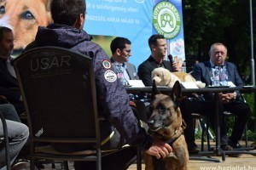
[[0,0],[0,26],[12,29],[15,35],[15,54],[32,42],[38,26],[52,22],[51,0]]

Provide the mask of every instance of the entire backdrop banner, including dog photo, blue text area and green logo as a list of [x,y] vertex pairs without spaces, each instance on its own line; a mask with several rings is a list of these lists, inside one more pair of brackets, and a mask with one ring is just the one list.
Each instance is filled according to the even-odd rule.
[[[34,40],[38,26],[48,26],[52,22],[50,2],[0,1],[3,9],[0,26],[7,26],[14,31],[15,55],[20,54]],[[158,33],[164,33],[170,39],[168,48],[171,54],[177,59],[184,59],[181,0],[86,0],[86,5],[84,31],[93,35],[93,41],[99,43],[109,57],[113,38],[127,37],[131,41],[132,55],[129,62],[140,65],[151,54],[148,38],[160,31]]]

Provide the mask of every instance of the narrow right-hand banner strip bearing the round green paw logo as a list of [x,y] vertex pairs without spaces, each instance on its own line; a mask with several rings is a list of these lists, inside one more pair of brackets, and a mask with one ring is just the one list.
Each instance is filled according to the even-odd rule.
[[167,39],[168,54],[179,66],[185,65],[183,37],[183,10],[181,0],[154,0],[153,34],[158,33]]

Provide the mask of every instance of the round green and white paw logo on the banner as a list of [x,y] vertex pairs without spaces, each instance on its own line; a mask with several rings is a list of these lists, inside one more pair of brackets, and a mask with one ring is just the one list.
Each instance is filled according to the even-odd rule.
[[166,39],[177,37],[181,30],[181,17],[177,8],[169,2],[160,2],[153,9],[153,26]]

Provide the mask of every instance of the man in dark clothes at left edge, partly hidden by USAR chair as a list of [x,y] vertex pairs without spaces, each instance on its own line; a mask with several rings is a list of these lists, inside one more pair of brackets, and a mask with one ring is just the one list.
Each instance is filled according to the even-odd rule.
[[20,115],[25,111],[20,91],[10,89],[19,88],[11,57],[14,40],[12,30],[0,26],[0,95],[4,95],[11,104],[15,105],[15,109]]

